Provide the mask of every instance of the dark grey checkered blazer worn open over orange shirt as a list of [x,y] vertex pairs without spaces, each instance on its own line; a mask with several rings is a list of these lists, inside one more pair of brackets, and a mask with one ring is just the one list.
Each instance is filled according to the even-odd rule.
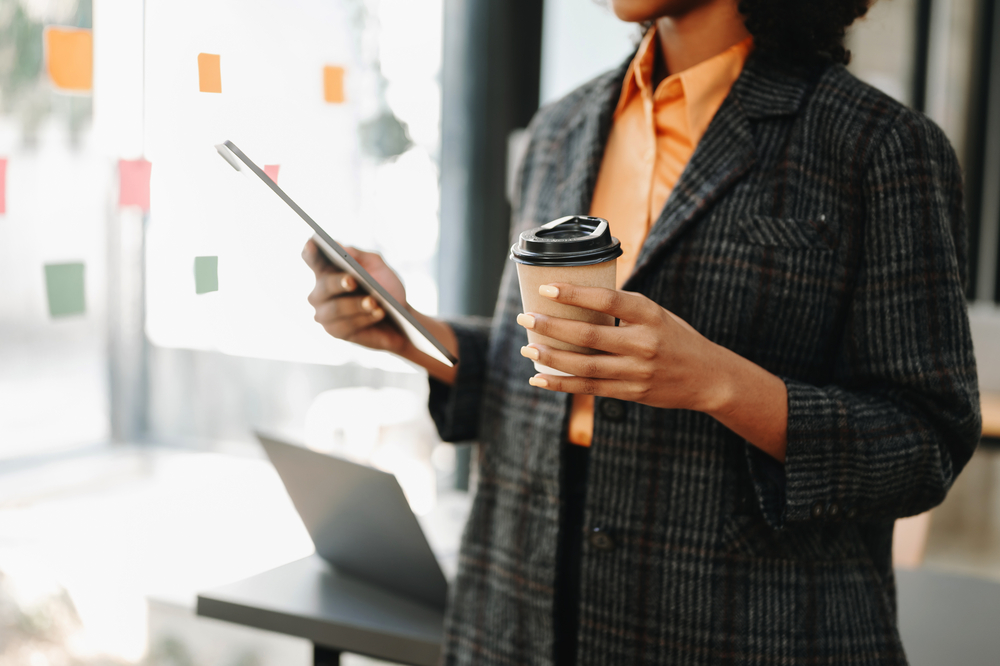
[[[540,110],[513,235],[587,213],[624,67]],[[498,253],[507,248],[496,248]],[[893,521],[944,498],[979,440],[961,173],[924,116],[831,66],[751,56],[624,289],[788,387],[770,462],[709,416],[597,399],[580,664],[905,664]],[[448,664],[551,664],[568,396],[528,385],[517,277],[456,321],[442,438],[480,443]],[[747,387],[753,390],[753,387]]]

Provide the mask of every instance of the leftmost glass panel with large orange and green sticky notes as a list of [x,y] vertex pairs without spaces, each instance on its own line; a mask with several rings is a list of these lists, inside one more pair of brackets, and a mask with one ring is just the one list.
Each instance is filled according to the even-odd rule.
[[0,0],[0,459],[108,438],[90,26],[86,0]]

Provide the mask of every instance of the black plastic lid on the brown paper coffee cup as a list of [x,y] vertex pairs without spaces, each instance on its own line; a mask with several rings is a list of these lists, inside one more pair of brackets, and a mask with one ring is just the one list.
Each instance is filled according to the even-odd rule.
[[622,255],[608,221],[570,215],[521,233],[510,258],[528,266],[590,266]]

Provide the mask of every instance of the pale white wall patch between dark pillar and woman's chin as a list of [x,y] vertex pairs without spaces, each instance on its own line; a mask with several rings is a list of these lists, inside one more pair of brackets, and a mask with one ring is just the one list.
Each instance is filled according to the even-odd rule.
[[639,37],[599,0],[545,0],[541,103],[559,99],[621,64]]

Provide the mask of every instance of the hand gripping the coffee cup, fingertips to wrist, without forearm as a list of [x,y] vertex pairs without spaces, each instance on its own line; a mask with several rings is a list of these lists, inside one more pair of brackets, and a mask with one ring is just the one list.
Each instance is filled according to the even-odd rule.
[[561,283],[543,285],[538,292],[558,303],[617,317],[621,325],[518,315],[517,322],[536,333],[607,352],[580,354],[544,344],[522,347],[523,356],[574,375],[535,375],[529,380],[532,386],[710,413],[724,403],[724,359],[732,352],[645,296]]

